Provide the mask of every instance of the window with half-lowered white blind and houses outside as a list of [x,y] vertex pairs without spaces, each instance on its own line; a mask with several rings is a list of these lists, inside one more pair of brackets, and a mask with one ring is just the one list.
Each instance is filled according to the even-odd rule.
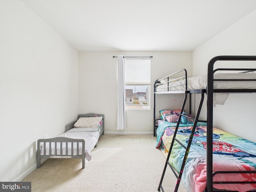
[[150,109],[150,59],[125,58],[126,109]]

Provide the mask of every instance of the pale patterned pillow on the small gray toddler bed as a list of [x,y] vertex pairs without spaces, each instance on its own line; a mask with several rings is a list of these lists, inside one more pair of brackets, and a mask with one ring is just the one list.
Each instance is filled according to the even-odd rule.
[[75,122],[75,128],[91,128],[97,127],[100,124],[102,117],[80,117],[77,122]]

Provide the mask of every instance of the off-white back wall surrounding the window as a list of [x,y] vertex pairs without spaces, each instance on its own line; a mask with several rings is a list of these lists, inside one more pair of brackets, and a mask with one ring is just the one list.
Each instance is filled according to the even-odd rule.
[[[151,109],[127,110],[126,130],[116,129],[118,59],[113,58],[113,56],[118,56],[119,54],[124,56],[153,56],[151,59]],[[105,114],[104,125],[107,134],[152,134],[154,82],[182,68],[187,68],[191,72],[192,52],[80,52],[79,113],[93,112]],[[191,75],[192,73],[188,73],[188,76]],[[181,108],[182,100],[183,95],[174,95],[173,97],[161,95],[157,97],[158,108],[156,111],[159,112],[159,110],[166,108]]]

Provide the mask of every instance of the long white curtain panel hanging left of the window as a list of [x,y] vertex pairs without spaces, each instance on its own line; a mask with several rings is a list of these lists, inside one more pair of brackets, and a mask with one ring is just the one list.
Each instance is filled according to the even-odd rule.
[[122,55],[118,56],[118,108],[117,108],[117,129],[126,128],[125,110],[125,63]]

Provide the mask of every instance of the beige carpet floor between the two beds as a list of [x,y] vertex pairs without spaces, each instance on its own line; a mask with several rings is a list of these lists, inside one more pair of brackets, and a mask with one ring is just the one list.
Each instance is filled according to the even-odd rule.
[[[165,158],[155,146],[152,135],[102,135],[84,169],[80,159],[48,159],[23,181],[32,192],[157,192]],[[164,191],[175,184],[168,168]],[[187,192],[182,184],[178,191]]]

